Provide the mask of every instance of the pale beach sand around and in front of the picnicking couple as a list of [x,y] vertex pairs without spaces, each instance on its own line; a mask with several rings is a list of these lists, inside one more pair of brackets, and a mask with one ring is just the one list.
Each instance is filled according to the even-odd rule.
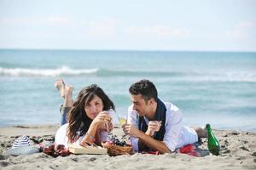
[[[256,169],[256,133],[230,130],[213,131],[221,145],[220,156],[195,157],[181,153],[160,156],[70,155],[56,158],[44,153],[3,156],[3,152],[21,135],[29,136],[31,144],[50,141],[54,139],[57,128],[57,125],[1,127],[0,169]],[[122,135],[122,130],[116,127],[113,133]],[[207,150],[207,140],[202,142],[201,150]]]

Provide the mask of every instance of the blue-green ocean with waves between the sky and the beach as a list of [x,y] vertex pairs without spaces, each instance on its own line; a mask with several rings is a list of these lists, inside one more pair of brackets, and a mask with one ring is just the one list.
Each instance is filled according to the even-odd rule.
[[149,79],[187,126],[256,131],[256,53],[245,52],[0,49],[0,127],[59,123],[61,77],[73,99],[98,84],[119,116],[130,85]]

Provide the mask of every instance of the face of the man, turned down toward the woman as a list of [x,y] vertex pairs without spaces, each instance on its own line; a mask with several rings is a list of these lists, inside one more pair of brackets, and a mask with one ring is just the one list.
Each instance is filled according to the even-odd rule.
[[137,111],[139,116],[147,116],[152,107],[143,99],[142,94],[131,95],[131,102],[133,104],[132,109]]

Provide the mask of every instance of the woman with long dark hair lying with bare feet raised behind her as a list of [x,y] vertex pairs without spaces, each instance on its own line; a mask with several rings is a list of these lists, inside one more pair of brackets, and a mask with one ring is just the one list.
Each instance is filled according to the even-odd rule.
[[62,125],[55,134],[55,144],[77,143],[83,146],[101,145],[113,130],[111,122],[115,106],[111,99],[96,84],[82,88],[76,101],[72,99],[72,86],[66,86],[63,80],[55,82],[64,103],[61,106]]

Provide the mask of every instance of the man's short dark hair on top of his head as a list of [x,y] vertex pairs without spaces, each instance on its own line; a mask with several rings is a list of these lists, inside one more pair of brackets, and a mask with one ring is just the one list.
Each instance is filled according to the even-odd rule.
[[157,90],[153,84],[153,82],[150,82],[149,80],[140,80],[138,82],[135,82],[131,84],[131,87],[129,88],[129,92],[131,95],[138,95],[142,94],[143,99],[147,102],[148,99],[154,99],[157,100]]

